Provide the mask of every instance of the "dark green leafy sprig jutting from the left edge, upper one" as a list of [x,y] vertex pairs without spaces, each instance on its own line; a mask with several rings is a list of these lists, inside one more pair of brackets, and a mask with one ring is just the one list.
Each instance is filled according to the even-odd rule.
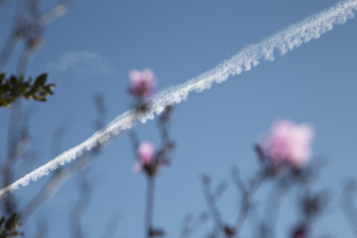
[[11,103],[17,98],[46,101],[48,95],[52,95],[55,84],[46,84],[47,73],[41,74],[31,84],[32,78],[24,82],[24,76],[11,76],[5,79],[5,74],[0,74],[0,107],[11,108]]

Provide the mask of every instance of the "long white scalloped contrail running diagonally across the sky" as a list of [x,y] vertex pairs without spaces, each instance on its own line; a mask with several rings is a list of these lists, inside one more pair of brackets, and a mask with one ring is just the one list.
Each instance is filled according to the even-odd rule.
[[167,105],[180,103],[186,100],[188,93],[195,90],[202,92],[209,89],[213,82],[222,83],[226,81],[228,76],[240,74],[243,69],[250,70],[253,66],[259,64],[259,60],[273,61],[274,50],[280,51],[280,55],[284,55],[294,47],[300,46],[303,42],[308,42],[311,39],[319,38],[326,31],[332,30],[334,25],[344,24],[347,19],[355,17],[357,10],[357,0],[343,0],[337,4],[306,17],[286,29],[278,33],[264,38],[261,42],[251,44],[230,60],[223,61],[217,67],[207,71],[196,78],[192,78],[185,83],[178,84],[162,90],[152,99],[150,110],[144,114],[136,114],[134,110],[129,110],[111,121],[105,128],[97,131],[89,139],[83,143],[63,152],[55,159],[42,165],[31,173],[25,175],[21,179],[11,185],[0,190],[0,199],[6,195],[8,191],[14,192],[19,189],[19,185],[26,186],[30,180],[36,181],[44,175],[48,175],[50,170],[56,169],[66,162],[70,162],[78,156],[81,156],[85,150],[90,150],[98,144],[102,144],[109,140],[111,136],[119,135],[122,130],[129,129],[133,126],[135,120],[140,120],[145,123],[147,119],[154,119],[154,113],[160,114]]

